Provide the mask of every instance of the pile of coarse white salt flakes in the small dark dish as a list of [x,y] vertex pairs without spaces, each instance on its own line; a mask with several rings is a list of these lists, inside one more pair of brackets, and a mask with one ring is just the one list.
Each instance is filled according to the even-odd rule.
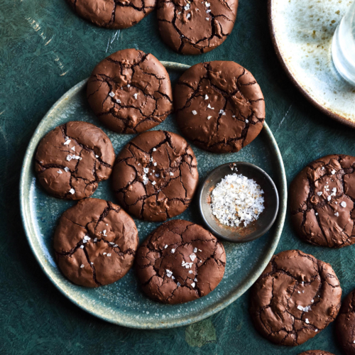
[[211,194],[212,214],[227,226],[247,226],[255,221],[264,210],[263,190],[244,175],[226,175]]

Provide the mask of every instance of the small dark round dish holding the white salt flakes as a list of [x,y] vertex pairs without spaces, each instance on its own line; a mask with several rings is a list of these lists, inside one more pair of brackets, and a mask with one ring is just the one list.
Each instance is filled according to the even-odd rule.
[[[214,187],[224,178],[230,174],[241,174],[249,179],[256,181],[263,190],[264,207],[258,219],[244,226],[241,222],[239,226],[227,226],[222,224],[212,214],[211,208],[211,193]],[[251,163],[236,162],[219,165],[219,167],[212,170],[207,178],[204,179],[200,185],[197,194],[198,205],[204,224],[209,231],[220,239],[232,241],[234,243],[242,243],[245,241],[253,241],[258,239],[263,234],[271,229],[278,215],[278,190],[275,183],[270,176],[261,168]]]

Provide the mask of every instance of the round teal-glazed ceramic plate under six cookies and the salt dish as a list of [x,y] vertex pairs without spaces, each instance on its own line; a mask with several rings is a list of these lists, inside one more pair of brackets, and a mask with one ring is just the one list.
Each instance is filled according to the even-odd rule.
[[[171,62],[163,62],[174,82],[188,68]],[[67,121],[89,121],[101,127],[111,138],[116,153],[133,138],[133,135],[117,134],[105,129],[92,114],[86,99],[86,82],[83,80],[72,87],[44,116],[35,130],[27,148],[21,173],[20,198],[23,225],[28,242],[46,275],[55,286],[72,302],[97,317],[125,327],[158,329],[178,327],[203,320],[219,312],[240,297],[255,282],[266,267],[278,244],[285,220],[287,200],[285,170],[273,134],[264,124],[261,134],[253,143],[239,153],[207,153],[192,145],[198,162],[200,181],[209,171],[222,163],[246,161],[258,165],[273,178],[280,195],[280,211],[273,227],[256,241],[245,244],[223,242],[226,249],[226,271],[219,286],[212,293],[184,305],[161,305],[149,300],[138,286],[134,270],[112,285],[91,289],[73,285],[62,276],[55,264],[52,250],[52,236],[60,214],[73,202],[48,196],[38,185],[33,170],[33,156],[40,139],[59,124]],[[173,116],[155,129],[178,132]],[[116,202],[110,190],[109,181],[101,182],[93,197]],[[178,216],[198,224],[202,219],[196,201]],[[146,236],[159,224],[135,219],[139,239]]]

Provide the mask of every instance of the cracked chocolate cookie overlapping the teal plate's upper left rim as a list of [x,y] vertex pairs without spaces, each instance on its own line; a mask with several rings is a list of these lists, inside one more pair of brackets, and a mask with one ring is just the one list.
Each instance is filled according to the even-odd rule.
[[87,83],[94,113],[112,131],[140,133],[173,111],[170,78],[154,55],[119,50],[94,67]]

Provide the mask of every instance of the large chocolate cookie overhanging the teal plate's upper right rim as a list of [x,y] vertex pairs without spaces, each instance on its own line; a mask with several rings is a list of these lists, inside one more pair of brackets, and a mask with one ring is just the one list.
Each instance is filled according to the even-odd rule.
[[216,153],[237,152],[251,143],[265,119],[259,85],[235,62],[190,67],[175,87],[174,105],[184,136]]

